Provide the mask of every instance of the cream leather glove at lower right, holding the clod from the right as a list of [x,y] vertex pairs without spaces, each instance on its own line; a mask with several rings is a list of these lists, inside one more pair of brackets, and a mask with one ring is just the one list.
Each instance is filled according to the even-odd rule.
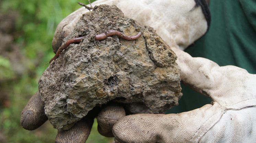
[[256,75],[235,66],[220,67],[173,49],[182,81],[209,96],[212,104],[179,114],[137,114],[119,120],[119,142],[255,142]]

